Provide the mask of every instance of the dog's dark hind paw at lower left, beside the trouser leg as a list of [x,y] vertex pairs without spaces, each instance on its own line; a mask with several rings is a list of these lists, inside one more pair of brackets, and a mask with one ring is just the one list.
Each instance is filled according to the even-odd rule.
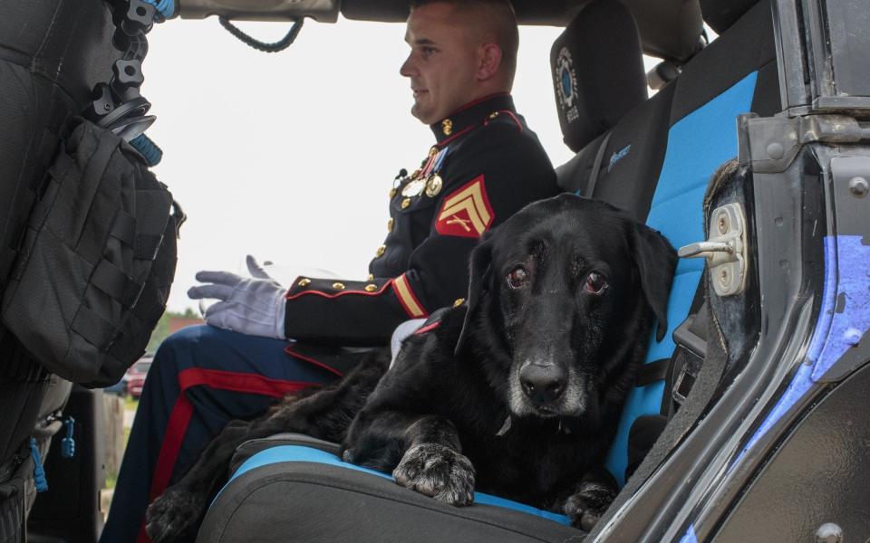
[[152,543],[192,540],[206,512],[206,499],[183,487],[169,487],[146,512],[145,531]]

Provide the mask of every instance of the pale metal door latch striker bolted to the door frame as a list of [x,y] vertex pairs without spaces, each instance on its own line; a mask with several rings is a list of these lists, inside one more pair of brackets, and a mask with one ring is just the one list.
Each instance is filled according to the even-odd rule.
[[722,205],[710,215],[710,239],[690,243],[677,253],[681,258],[706,258],[710,282],[720,296],[732,296],[746,285],[747,256],[746,214],[734,202]]

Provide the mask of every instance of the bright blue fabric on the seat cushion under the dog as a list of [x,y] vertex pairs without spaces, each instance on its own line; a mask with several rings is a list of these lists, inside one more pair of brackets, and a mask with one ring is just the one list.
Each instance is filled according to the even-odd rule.
[[[256,454],[248,458],[247,461],[245,461],[244,463],[242,463],[241,466],[238,467],[232,478],[230,478],[230,480],[227,482],[227,485],[237,477],[242,476],[244,473],[256,470],[257,468],[261,468],[263,466],[276,462],[324,463],[340,468],[346,468],[348,470],[354,470],[356,472],[370,473],[378,477],[383,477],[384,479],[392,480],[392,477],[387,473],[376,472],[374,470],[363,468],[352,463],[343,462],[331,452],[325,452],[321,451],[320,449],[314,449],[312,447],[305,447],[302,445],[278,445],[276,447],[271,447],[264,451],[257,452]],[[226,489],[227,487],[225,486],[224,488]],[[221,490],[221,492],[223,492],[223,490]],[[220,496],[219,493],[218,496]],[[218,498],[216,497],[215,500],[218,500]],[[525,503],[505,500],[504,498],[498,498],[498,496],[484,494],[483,492],[474,493],[474,502],[478,505],[492,505],[495,507],[503,507],[511,510],[522,511],[529,515],[535,515],[536,517],[541,517],[543,519],[555,520],[556,522],[565,525],[571,524],[571,521],[567,517],[565,517],[565,515],[557,515],[556,513],[550,511],[539,510],[530,505],[526,505]]]

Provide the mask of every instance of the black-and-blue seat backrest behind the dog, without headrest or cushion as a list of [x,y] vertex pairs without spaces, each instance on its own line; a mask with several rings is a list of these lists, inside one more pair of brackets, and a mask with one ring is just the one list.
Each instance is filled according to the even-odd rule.
[[[626,115],[611,131],[604,152],[616,163],[609,160],[608,168],[601,168],[592,195],[629,209],[676,248],[703,240],[703,195],[716,169],[737,156],[737,116],[749,111],[773,115],[779,110],[772,27],[770,5],[764,0],[692,58],[680,77]],[[671,102],[666,124],[662,105],[655,104],[659,100]],[[657,154],[661,144],[643,141],[643,156],[630,162],[632,140],[661,138],[662,129],[663,156]],[[626,147],[620,146],[631,147],[623,151]],[[646,202],[638,197],[626,205],[626,194],[652,197]],[[668,302],[668,331],[661,342],[650,339],[645,364],[670,359],[673,330],[689,314],[703,268],[702,259],[678,262]],[[661,378],[637,385],[626,400],[606,462],[620,484],[630,467],[628,441],[634,422],[662,413],[662,402],[670,401],[671,392],[664,390]],[[634,460],[636,464],[640,459]]]

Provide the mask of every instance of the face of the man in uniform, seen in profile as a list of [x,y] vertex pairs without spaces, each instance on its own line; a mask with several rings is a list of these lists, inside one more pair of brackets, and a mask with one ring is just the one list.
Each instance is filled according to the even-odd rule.
[[400,73],[411,79],[411,115],[426,124],[479,98],[480,51],[469,40],[466,25],[458,17],[451,18],[453,9],[448,4],[421,5],[408,18],[405,41],[411,54]]

